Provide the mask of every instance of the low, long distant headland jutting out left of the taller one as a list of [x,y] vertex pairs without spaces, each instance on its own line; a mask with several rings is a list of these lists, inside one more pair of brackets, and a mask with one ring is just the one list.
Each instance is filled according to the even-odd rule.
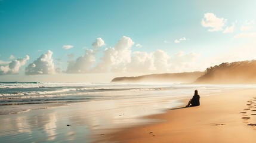
[[203,72],[147,74],[134,77],[116,77],[112,82],[194,82]]

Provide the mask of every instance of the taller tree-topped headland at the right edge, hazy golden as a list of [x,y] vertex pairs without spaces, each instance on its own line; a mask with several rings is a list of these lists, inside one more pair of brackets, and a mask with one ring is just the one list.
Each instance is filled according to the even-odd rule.
[[209,67],[196,83],[256,83],[256,60],[222,63]]

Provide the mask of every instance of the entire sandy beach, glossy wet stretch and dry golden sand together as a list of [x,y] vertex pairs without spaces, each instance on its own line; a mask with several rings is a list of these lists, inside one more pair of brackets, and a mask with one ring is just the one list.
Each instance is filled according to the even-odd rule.
[[[184,108],[187,97],[160,97],[165,91],[135,100],[77,102],[57,107],[32,104],[40,108],[0,116],[0,141],[255,142],[256,89],[240,86],[203,92],[203,87],[199,90],[201,105],[189,108]],[[15,106],[23,108],[11,107]]]

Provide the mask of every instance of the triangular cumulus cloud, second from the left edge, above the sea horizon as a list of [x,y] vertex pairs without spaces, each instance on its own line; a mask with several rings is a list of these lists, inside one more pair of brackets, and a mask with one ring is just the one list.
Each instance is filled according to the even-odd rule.
[[55,70],[52,55],[53,52],[50,50],[42,54],[37,60],[26,67],[25,74],[53,74]]

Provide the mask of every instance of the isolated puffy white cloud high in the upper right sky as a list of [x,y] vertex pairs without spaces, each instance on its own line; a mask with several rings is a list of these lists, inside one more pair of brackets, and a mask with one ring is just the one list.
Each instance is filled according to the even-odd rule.
[[206,13],[201,21],[203,27],[210,27],[209,32],[222,31],[226,23],[226,19],[218,18],[213,13]]

